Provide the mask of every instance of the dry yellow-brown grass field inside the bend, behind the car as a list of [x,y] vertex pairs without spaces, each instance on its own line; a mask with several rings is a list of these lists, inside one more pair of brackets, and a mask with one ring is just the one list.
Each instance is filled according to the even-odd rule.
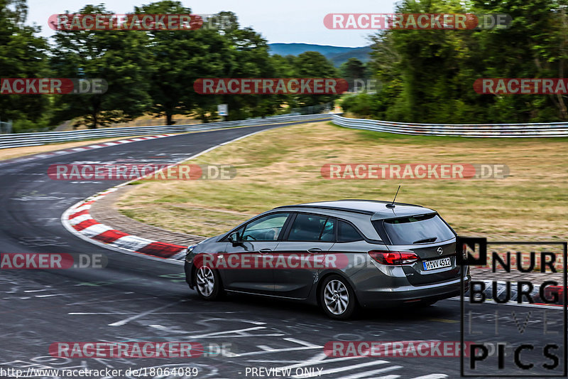
[[[568,239],[567,139],[412,137],[327,123],[269,130],[204,154],[231,164],[232,180],[151,181],[119,201],[123,213],[161,228],[215,235],[278,205],[340,198],[435,208],[462,235]],[[328,180],[323,164],[507,164],[510,176],[481,180]]]

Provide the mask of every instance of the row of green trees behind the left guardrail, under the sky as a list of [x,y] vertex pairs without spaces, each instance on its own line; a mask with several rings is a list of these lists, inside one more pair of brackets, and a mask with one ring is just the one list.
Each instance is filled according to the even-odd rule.
[[[77,14],[111,14],[87,5]],[[191,14],[180,1],[136,6],[133,14]],[[323,104],[336,95],[200,95],[198,78],[337,78],[323,55],[270,55],[268,42],[241,27],[232,12],[220,12],[193,31],[67,31],[53,43],[26,25],[26,0],[0,0],[1,78],[103,78],[104,94],[0,95],[0,119],[13,129],[46,129],[73,119],[89,128],[127,122],[143,114],[174,124],[189,114],[210,122],[217,105],[229,105],[227,119],[280,114],[295,107]],[[47,17],[46,17],[47,21]]]

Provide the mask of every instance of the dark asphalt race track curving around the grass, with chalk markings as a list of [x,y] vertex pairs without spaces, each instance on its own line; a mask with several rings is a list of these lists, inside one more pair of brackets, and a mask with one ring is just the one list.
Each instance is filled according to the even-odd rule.
[[[312,376],[316,378],[459,378],[460,361],[455,357],[332,358],[323,349],[328,341],[460,341],[461,310],[456,299],[424,309],[365,311],[354,321],[331,321],[320,309],[281,300],[229,297],[205,302],[185,284],[182,266],[104,249],[72,235],[60,223],[71,205],[120,182],[54,181],[46,173],[50,164],[173,163],[273,127],[181,134],[0,166],[0,252],[87,252],[108,259],[104,269],[0,270],[0,367],[123,372],[128,368],[192,367],[199,370],[197,378],[231,379],[276,377],[253,375],[251,368],[292,368],[293,375],[306,371],[319,375]],[[503,312],[503,324],[496,338],[512,346],[545,341],[545,317],[550,323],[548,333],[562,332],[560,324],[550,321],[558,319],[560,309],[494,304],[473,312],[471,330],[493,336],[495,325],[487,315],[497,310]],[[510,311],[516,312],[516,319]],[[519,322],[523,324],[529,311],[530,319],[520,333]],[[469,326],[465,326],[466,333]],[[472,338],[474,334],[465,339],[474,341]],[[50,344],[63,341],[195,341],[205,347],[205,353],[199,358],[51,357]],[[225,346],[224,353],[215,346]],[[563,365],[562,354],[559,356]],[[523,357],[535,358],[535,365],[550,363],[540,351],[533,356],[523,353]],[[506,367],[511,367],[511,361],[509,351]],[[501,371],[513,372],[518,370]],[[120,378],[138,376],[123,374]]]

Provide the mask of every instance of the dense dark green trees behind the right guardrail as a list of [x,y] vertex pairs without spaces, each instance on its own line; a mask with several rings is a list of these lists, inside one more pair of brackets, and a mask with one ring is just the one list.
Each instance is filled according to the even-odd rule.
[[403,0],[396,13],[508,14],[507,28],[386,30],[372,36],[375,93],[344,98],[359,117],[395,122],[507,123],[568,119],[567,95],[480,95],[479,78],[564,78],[566,0]]

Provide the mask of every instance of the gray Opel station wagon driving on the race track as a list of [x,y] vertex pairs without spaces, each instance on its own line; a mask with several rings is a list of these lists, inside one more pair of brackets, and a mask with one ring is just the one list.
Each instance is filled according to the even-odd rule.
[[359,308],[434,304],[469,287],[456,233],[435,210],[388,201],[287,205],[187,248],[186,281],[226,292],[319,304],[333,319]]

